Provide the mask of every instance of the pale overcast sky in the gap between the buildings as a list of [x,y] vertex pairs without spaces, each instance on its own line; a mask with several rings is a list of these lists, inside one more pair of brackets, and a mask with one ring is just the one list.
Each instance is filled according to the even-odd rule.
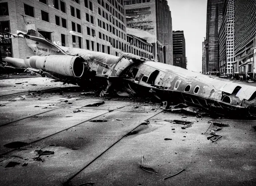
[[167,0],[172,14],[172,30],[184,31],[187,69],[201,72],[202,42],[206,33],[207,0]]

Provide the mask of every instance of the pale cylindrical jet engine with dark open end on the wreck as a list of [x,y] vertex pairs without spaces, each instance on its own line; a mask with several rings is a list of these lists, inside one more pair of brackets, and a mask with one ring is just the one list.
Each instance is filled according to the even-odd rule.
[[79,56],[32,56],[29,59],[29,63],[32,68],[54,72],[63,76],[81,77],[84,73],[83,59]]

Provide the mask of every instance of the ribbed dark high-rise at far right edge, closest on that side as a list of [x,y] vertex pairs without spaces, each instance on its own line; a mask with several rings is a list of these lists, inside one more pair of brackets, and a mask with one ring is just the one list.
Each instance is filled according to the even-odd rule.
[[236,0],[234,18],[235,77],[253,75],[256,63],[256,0]]

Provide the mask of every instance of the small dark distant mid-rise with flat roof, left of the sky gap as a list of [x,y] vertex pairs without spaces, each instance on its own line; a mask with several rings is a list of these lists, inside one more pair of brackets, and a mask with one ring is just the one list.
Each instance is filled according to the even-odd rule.
[[187,68],[186,43],[183,31],[172,31],[173,65]]

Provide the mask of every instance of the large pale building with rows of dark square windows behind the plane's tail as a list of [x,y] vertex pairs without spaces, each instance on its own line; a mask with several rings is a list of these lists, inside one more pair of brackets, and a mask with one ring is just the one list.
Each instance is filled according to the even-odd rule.
[[[2,28],[11,33],[33,28],[63,46],[116,56],[128,49],[121,0],[2,0],[0,8]],[[24,39],[11,38],[11,46],[13,57],[35,54]]]

